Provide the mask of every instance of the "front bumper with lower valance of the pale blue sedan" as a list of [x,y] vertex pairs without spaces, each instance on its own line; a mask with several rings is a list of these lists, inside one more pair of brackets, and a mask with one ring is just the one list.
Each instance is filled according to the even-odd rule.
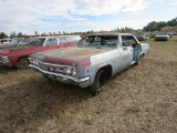
[[[54,75],[54,78],[56,79],[56,81],[59,82],[63,82],[63,83],[72,83],[72,84],[76,84],[81,88],[86,88],[90,85],[90,76],[86,78],[82,78],[82,79],[77,79],[77,78],[73,78],[70,75],[63,75],[60,73],[54,73],[54,72],[49,72],[45,70],[42,70],[41,68],[33,65],[33,64],[29,64],[30,68],[33,68],[34,70],[38,70],[40,72],[42,72],[43,74],[48,74],[48,75]],[[63,80],[58,80],[59,79],[63,79]]]

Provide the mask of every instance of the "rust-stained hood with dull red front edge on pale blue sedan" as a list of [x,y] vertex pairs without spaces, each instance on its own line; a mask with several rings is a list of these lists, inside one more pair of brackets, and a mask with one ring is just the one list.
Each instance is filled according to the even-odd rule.
[[80,62],[88,65],[91,57],[107,51],[110,50],[70,47],[33,53],[31,57],[50,63],[75,65]]

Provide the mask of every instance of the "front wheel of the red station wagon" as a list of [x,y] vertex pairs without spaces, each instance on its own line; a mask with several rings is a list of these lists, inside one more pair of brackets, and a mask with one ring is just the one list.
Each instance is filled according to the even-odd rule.
[[29,68],[29,60],[28,58],[21,58],[18,60],[18,69],[25,70]]

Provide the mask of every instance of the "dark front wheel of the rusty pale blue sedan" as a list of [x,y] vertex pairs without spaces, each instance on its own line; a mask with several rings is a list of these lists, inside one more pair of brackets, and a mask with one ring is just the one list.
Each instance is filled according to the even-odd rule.
[[102,90],[105,82],[105,72],[104,70],[98,70],[95,76],[94,83],[90,86],[90,93],[92,95],[97,95]]

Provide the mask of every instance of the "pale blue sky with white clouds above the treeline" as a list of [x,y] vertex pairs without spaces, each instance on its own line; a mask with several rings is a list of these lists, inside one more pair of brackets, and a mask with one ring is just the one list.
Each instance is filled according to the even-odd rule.
[[177,17],[177,0],[0,0],[0,32],[142,29]]

